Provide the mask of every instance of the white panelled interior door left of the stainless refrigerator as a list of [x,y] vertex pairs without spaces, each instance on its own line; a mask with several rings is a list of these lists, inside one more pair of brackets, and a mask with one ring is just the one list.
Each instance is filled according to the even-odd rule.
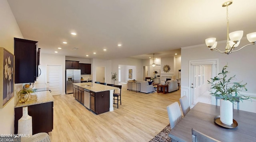
[[46,86],[52,95],[62,94],[62,65],[46,65]]

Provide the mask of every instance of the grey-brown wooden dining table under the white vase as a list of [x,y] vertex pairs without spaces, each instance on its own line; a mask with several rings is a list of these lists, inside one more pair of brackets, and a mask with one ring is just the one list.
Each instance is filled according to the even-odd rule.
[[[196,129],[221,142],[255,142],[256,113],[233,109],[237,125],[226,126],[214,120],[220,115],[220,106],[198,102],[169,132],[173,141],[192,142],[191,129]],[[217,123],[215,123],[217,122]]]

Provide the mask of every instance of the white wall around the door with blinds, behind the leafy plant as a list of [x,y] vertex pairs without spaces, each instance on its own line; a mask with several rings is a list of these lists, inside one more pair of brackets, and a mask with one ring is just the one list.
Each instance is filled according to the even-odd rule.
[[[246,39],[242,39],[240,46],[247,45],[249,42]],[[190,60],[205,60],[218,58],[219,64],[217,65],[217,73],[221,72],[222,67],[228,64],[227,70],[230,72],[230,76],[236,75],[237,82],[243,81],[247,83],[246,88],[248,91],[240,92],[241,95],[256,96],[255,80],[256,80],[256,45],[244,47],[238,52],[227,54],[221,54],[217,51],[210,51],[206,45],[196,45],[194,48],[182,48],[181,54],[181,95],[190,95],[188,90],[189,84],[189,61]],[[225,42],[218,42],[217,48],[224,51],[226,47]],[[240,102],[240,109],[251,111],[256,113],[256,100]]]

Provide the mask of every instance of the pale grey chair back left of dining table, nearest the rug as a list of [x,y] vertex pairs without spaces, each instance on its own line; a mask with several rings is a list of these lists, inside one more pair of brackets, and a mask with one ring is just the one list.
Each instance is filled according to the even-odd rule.
[[182,119],[180,106],[179,106],[178,102],[174,102],[174,103],[168,105],[167,113],[168,113],[168,117],[169,117],[169,121],[170,121],[170,127],[171,127],[171,129],[173,129],[176,126],[176,124],[178,124]]

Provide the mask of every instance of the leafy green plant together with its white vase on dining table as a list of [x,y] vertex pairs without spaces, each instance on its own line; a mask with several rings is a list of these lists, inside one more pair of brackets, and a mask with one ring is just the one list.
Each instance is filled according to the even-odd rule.
[[212,84],[211,89],[215,90],[210,94],[220,98],[220,121],[224,124],[231,125],[233,123],[233,103],[236,102],[237,99],[243,101],[244,99],[254,97],[238,95],[243,89],[247,91],[245,87],[247,83],[231,82],[231,80],[236,79],[236,75],[227,78],[227,74],[229,73],[226,70],[227,67],[227,65],[224,66],[222,72],[220,72],[218,76],[211,78],[211,81],[208,80],[208,83]]

